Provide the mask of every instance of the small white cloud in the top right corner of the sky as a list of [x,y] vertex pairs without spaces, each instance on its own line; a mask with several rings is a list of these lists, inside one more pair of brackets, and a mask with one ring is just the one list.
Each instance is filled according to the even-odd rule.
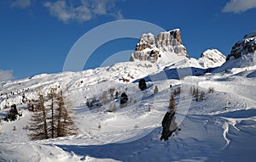
[[248,9],[256,8],[255,0],[230,0],[222,9],[223,13],[242,13]]

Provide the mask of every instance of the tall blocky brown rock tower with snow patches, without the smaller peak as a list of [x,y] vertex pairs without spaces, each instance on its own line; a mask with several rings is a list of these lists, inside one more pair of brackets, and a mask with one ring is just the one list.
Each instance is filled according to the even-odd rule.
[[150,60],[156,62],[161,54],[177,54],[189,58],[186,47],[181,40],[179,29],[161,32],[158,36],[151,33],[143,34],[134,53],[131,54],[131,61]]

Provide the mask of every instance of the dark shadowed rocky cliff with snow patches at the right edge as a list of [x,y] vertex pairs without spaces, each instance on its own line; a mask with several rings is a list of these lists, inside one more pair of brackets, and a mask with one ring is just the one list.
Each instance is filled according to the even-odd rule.
[[231,53],[227,56],[227,60],[231,57],[235,59],[241,58],[242,55],[253,53],[256,51],[256,31],[247,34],[243,39],[232,47]]

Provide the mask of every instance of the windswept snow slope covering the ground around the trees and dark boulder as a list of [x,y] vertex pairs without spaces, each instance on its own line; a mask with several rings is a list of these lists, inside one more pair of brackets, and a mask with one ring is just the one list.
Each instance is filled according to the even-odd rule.
[[[187,68],[187,67],[185,67]],[[253,161],[256,148],[256,78],[254,66],[231,69],[202,76],[176,73],[162,74],[150,62],[129,62],[110,67],[36,75],[20,81],[0,83],[0,161]],[[167,70],[166,70],[167,71]],[[148,88],[140,91],[137,80],[151,75]],[[129,79],[123,82],[119,79]],[[170,88],[172,85],[172,88]],[[154,95],[154,87],[159,92]],[[21,95],[36,98],[38,91],[61,87],[73,103],[73,120],[79,135],[42,141],[27,137],[31,112],[21,103]],[[130,98],[127,107],[119,108],[119,98],[89,109],[86,99],[100,97],[114,87]],[[175,131],[166,142],[160,142],[161,120],[166,114],[171,92],[181,87],[176,97]],[[205,92],[198,102],[190,87]],[[214,88],[209,93],[209,87]],[[8,96],[8,99],[6,98]],[[16,103],[19,120],[3,120]],[[108,112],[111,104],[115,112]],[[227,105],[228,103],[228,105]],[[227,107],[227,109],[225,109]]]

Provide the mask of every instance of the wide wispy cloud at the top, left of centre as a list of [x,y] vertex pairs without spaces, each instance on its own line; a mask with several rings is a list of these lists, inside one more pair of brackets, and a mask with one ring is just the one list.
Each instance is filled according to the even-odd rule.
[[111,15],[122,19],[120,11],[114,9],[115,0],[80,0],[79,5],[73,1],[57,0],[55,3],[45,2],[44,7],[49,8],[50,14],[63,22],[91,20],[99,15]]

